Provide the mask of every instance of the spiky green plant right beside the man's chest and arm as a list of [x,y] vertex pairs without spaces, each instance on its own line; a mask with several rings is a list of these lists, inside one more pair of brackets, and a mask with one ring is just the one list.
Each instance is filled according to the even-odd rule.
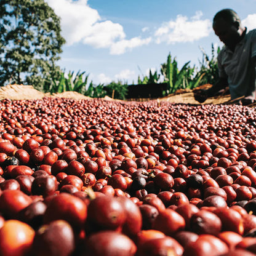
[[[218,63],[217,56],[215,54],[214,45],[212,44],[212,54],[211,58],[206,54],[204,49],[201,48],[202,52],[202,61],[199,61],[200,67],[198,73],[200,75],[204,74],[203,78],[199,82],[199,85],[202,84],[215,84],[218,80]],[[217,54],[220,52],[220,47],[217,49]]]

